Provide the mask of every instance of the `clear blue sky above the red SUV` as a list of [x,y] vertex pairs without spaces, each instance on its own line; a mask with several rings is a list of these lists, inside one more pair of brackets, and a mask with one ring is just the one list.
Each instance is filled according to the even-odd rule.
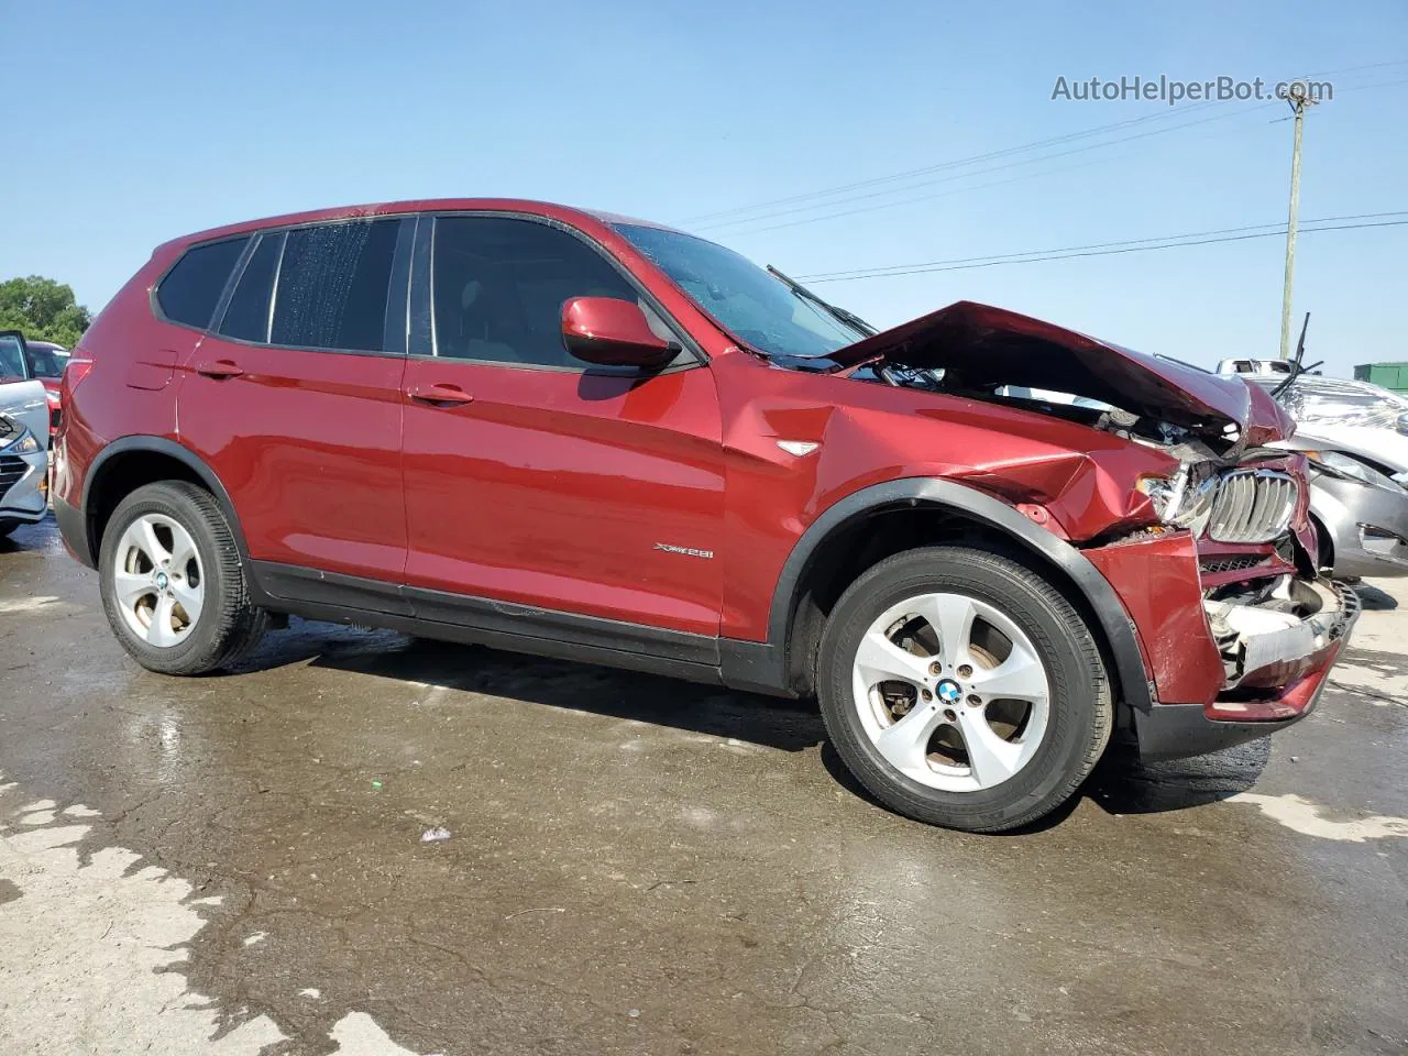
[[[54,276],[93,308],[173,235],[427,196],[649,217],[793,275],[1284,222],[1287,111],[1236,101],[825,208],[697,220],[1169,110],[1053,101],[1057,76],[1347,70],[1307,120],[1301,217],[1408,214],[1402,0],[0,0],[0,23],[6,141],[24,151],[0,169],[0,277]],[[869,206],[884,207],[814,221]],[[817,289],[881,325],[974,298],[1211,363],[1274,355],[1283,252],[1260,238]],[[1405,260],[1408,227],[1301,239],[1297,318],[1314,313],[1308,344],[1332,372],[1408,359]]]

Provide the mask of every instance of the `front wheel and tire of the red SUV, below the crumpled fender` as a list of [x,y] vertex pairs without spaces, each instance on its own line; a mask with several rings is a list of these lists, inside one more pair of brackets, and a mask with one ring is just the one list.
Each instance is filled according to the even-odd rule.
[[[972,638],[952,635],[962,652],[950,653],[938,629],[964,611],[976,614]],[[890,652],[897,641],[905,648]],[[884,680],[891,669],[905,680]],[[863,573],[831,612],[817,676],[826,732],[856,780],[908,818],[969,832],[1060,807],[1114,725],[1100,649],[1076,608],[1019,562],[963,546],[908,551]]]

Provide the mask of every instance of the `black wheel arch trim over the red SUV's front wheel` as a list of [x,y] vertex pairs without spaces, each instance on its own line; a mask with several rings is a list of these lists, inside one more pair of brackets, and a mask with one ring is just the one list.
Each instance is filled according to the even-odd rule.
[[798,586],[818,546],[834,531],[856,518],[905,503],[948,507],[972,520],[981,521],[1022,543],[1026,549],[1035,551],[1064,572],[1084,594],[1100,621],[1100,629],[1104,632],[1115,665],[1115,674],[1119,679],[1119,698],[1139,711],[1148,711],[1153,705],[1149,676],[1145,673],[1143,650],[1139,646],[1133,621],[1119,600],[1119,594],[1110,586],[1110,580],[1101,576],[1100,570],[1079,549],[1032,524],[1007,503],[977,489],[941,477],[905,477],[863,487],[826,507],[807,527],[783,565],[769,608],[767,658],[779,667],[773,677],[783,684],[787,681],[788,632],[800,601]]

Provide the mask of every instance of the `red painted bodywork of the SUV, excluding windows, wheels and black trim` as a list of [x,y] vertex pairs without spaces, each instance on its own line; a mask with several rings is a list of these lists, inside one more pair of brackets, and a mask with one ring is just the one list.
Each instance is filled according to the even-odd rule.
[[[708,362],[622,379],[308,352],[203,337],[152,313],[153,283],[191,242],[293,222],[453,211],[574,228],[631,272]],[[765,642],[781,570],[811,524],[867,486],[941,477],[1022,510],[1083,549],[1133,621],[1157,698],[1224,717],[1224,666],[1202,612],[1209,580],[1200,577],[1200,559],[1256,553],[1266,562],[1259,574],[1290,566],[1271,546],[1200,551],[1186,532],[1105,545],[1157,524],[1135,482],[1171,476],[1173,455],[1035,410],[846,370],[781,369],[741,349],[610,221],[545,203],[455,199],[320,210],[163,245],[73,351],[92,367],[68,394],[55,496],[77,510],[89,466],[113,441],[172,439],[228,491],[256,560]],[[597,314],[610,307],[596,306]],[[589,308],[569,318],[583,334],[605,327],[605,317],[587,325]],[[972,342],[970,366],[984,341],[1008,358],[1014,341],[1045,342],[1095,383],[1108,375],[1129,400],[1188,428],[1221,438],[1218,422],[1238,421],[1243,446],[1290,429],[1260,389],[986,306],[934,313],[841,349],[836,360],[903,362],[960,339]],[[210,376],[213,365],[228,376]],[[780,441],[817,446],[796,455]],[[1301,456],[1266,465],[1304,480]],[[1293,531],[1312,552],[1304,507],[1302,497]],[[1263,701],[1266,717],[1304,710],[1332,662],[1333,652],[1316,656],[1280,703]]]

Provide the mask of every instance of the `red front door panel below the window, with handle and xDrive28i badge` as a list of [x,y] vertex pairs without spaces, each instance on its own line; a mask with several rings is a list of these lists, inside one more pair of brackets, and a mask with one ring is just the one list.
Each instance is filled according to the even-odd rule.
[[473,397],[406,404],[407,583],[718,634],[724,463],[708,369],[642,384],[411,359],[406,382]]

